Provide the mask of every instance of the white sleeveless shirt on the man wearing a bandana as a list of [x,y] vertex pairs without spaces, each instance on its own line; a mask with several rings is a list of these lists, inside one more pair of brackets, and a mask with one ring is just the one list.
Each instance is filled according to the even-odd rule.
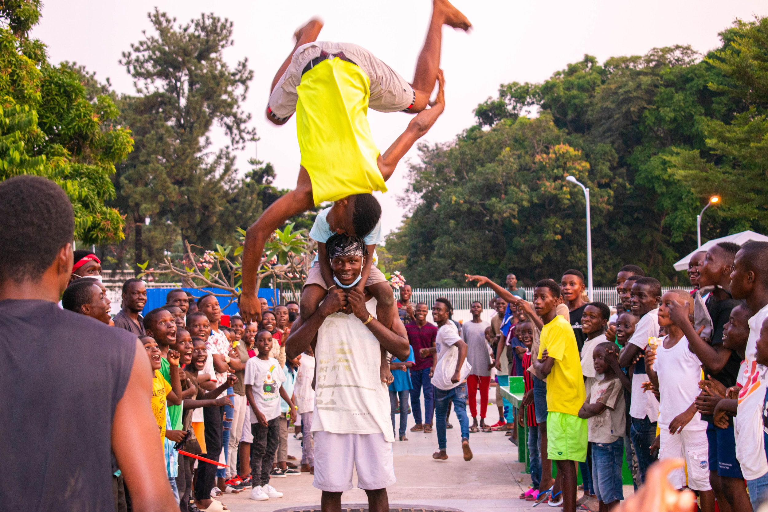
[[[376,299],[366,302],[376,316]],[[355,315],[334,313],[317,332],[315,410],[312,431],[384,434],[395,441],[389,391],[381,381],[381,345]]]

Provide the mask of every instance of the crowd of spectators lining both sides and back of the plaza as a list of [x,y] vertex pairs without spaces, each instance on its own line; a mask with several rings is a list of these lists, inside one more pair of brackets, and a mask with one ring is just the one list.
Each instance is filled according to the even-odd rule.
[[[350,237],[333,238],[347,244],[342,252],[349,254]],[[363,244],[370,245],[367,240],[359,246]],[[521,499],[577,510],[581,501],[594,497],[601,510],[611,510],[624,500],[621,467],[626,454],[636,489],[654,461],[680,458],[685,467],[670,474],[670,483],[695,491],[701,510],[715,510],[716,500],[719,510],[750,510],[768,487],[768,444],[761,431],[763,418],[768,418],[763,415],[765,392],[756,394],[764,378],[762,363],[768,362],[768,325],[760,338],[768,314],[766,263],[764,243],[719,243],[692,257],[693,292],[664,293],[657,279],[627,265],[617,273],[621,302],[615,312],[602,302],[587,302],[584,276],[575,269],[566,270],[560,282],[537,282],[531,302],[517,288],[514,274],[506,287],[484,276],[467,276],[498,294],[489,304],[495,313],[491,322],[481,319],[481,302],[472,303],[471,321],[455,322],[445,298],[432,304],[435,323],[428,322],[428,305],[412,302],[406,284],[399,290],[396,316],[405,326],[407,355],[393,355],[385,344],[377,344],[370,354],[348,351],[347,363],[356,365],[357,359],[362,365],[363,359],[381,354],[387,371],[379,368],[376,377],[388,385],[389,421],[385,428],[375,418],[379,424],[373,429],[387,440],[408,441],[412,415],[410,431],[436,429],[435,459],[448,458],[450,408],[458,419],[465,461],[472,459],[470,433],[507,431],[517,442],[515,424],[525,424],[528,439],[520,442],[528,444],[532,485]],[[315,373],[321,367],[310,336],[317,329],[303,334],[307,346],[299,353],[294,348],[286,355],[286,340],[293,325],[300,324],[302,305],[270,307],[264,299],[261,321],[243,322],[238,315],[222,315],[213,295],[194,297],[172,289],[165,306],[142,316],[146,286],[140,279],[128,279],[122,309],[112,319],[98,279],[98,257],[76,251],[73,268],[63,307],[137,335],[147,351],[152,409],[180,510],[218,510],[217,496],[246,489],[254,500],[282,497],[271,478],[315,474],[314,381],[320,408],[329,398],[338,404],[343,395],[338,389],[329,395],[323,385],[327,375]],[[307,279],[307,284],[320,287],[320,266],[316,269],[316,280]],[[378,282],[385,281],[379,277]],[[312,294],[312,287],[308,289]],[[326,293],[323,289],[315,296],[313,312]],[[371,306],[377,318],[381,302]],[[393,302],[390,297],[389,304]],[[338,338],[349,329],[345,323],[323,323],[326,335],[333,332]],[[514,419],[515,412],[497,394],[498,421],[486,423],[492,375],[524,378],[525,396]],[[354,403],[351,396],[346,400]],[[327,416],[323,420],[329,421]],[[302,440],[300,461],[287,454],[290,431]],[[189,455],[178,454],[179,449]],[[551,476],[552,461],[557,478]],[[358,471],[360,475],[360,464]],[[584,490],[580,500],[577,471]],[[386,480],[381,487],[393,483]],[[114,481],[120,489],[117,469]]]

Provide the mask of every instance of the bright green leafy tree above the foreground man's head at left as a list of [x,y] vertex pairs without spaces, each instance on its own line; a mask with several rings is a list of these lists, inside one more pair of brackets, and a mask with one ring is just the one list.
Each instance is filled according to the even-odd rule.
[[58,183],[72,201],[75,239],[117,241],[123,220],[104,203],[114,198],[111,175],[133,147],[111,97],[88,97],[81,69],[48,63],[45,45],[28,32],[41,2],[0,4],[0,179],[33,173]]

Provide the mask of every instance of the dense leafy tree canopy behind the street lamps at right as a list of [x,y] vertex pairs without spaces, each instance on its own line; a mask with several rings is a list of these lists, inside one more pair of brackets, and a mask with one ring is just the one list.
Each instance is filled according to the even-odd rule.
[[[450,144],[422,145],[387,249],[415,286],[463,273],[531,284],[585,270],[581,189],[590,188],[595,282],[626,263],[676,282],[703,235],[768,231],[768,18],[737,21],[702,58],[690,47],[590,55],[541,84],[502,84]],[[538,113],[530,119],[525,114]]]

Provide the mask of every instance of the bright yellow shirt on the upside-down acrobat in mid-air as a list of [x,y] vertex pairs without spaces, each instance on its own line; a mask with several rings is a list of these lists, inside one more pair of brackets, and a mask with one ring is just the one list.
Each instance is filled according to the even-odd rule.
[[370,78],[336,57],[303,74],[296,88],[296,134],[301,165],[315,204],[356,193],[386,192],[368,124]]

